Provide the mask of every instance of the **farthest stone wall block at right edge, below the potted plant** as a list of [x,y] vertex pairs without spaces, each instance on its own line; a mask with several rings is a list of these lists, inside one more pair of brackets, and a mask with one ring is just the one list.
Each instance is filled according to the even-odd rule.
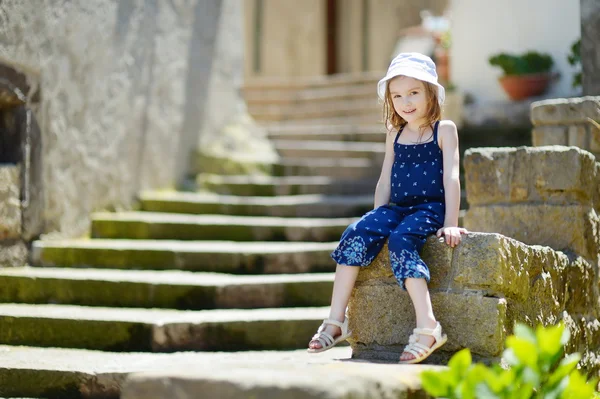
[[[559,98],[531,104],[534,146],[570,145],[600,156],[600,97]],[[596,123],[594,123],[596,122]]]

